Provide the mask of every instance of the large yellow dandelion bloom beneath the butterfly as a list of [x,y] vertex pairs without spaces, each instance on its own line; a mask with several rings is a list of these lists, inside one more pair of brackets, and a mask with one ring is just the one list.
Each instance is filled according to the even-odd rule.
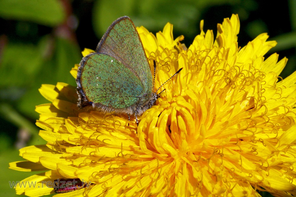
[[46,183],[67,179],[91,184],[57,196],[295,196],[296,72],[283,80],[287,59],[263,57],[276,45],[266,33],[240,48],[237,15],[218,24],[216,38],[200,28],[188,49],[169,23],[156,36],[137,29],[151,68],[157,62],[155,87],[184,68],[139,126],[79,111],[76,87],[43,85],[50,103],[36,107],[36,124],[47,144],[20,149],[27,161],[10,168],[45,172],[17,194],[54,193]]

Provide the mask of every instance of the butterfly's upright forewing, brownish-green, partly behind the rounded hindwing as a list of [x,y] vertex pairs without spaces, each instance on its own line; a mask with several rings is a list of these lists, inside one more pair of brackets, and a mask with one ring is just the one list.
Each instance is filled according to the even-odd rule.
[[139,77],[144,87],[143,92],[152,94],[152,74],[147,56],[136,27],[129,17],[120,17],[110,25],[96,52],[108,54],[120,61]]

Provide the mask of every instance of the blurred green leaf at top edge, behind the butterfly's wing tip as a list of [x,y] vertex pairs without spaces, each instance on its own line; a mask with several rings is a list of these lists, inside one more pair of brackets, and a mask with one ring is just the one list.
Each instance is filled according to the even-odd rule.
[[149,31],[163,30],[164,25],[170,22],[174,25],[174,31],[186,29],[187,34],[193,34],[199,29],[196,22],[200,20],[200,10],[192,3],[194,1],[180,4],[172,4],[169,0],[95,1],[92,15],[94,31],[100,38],[115,19],[129,16],[136,26],[143,25]]

